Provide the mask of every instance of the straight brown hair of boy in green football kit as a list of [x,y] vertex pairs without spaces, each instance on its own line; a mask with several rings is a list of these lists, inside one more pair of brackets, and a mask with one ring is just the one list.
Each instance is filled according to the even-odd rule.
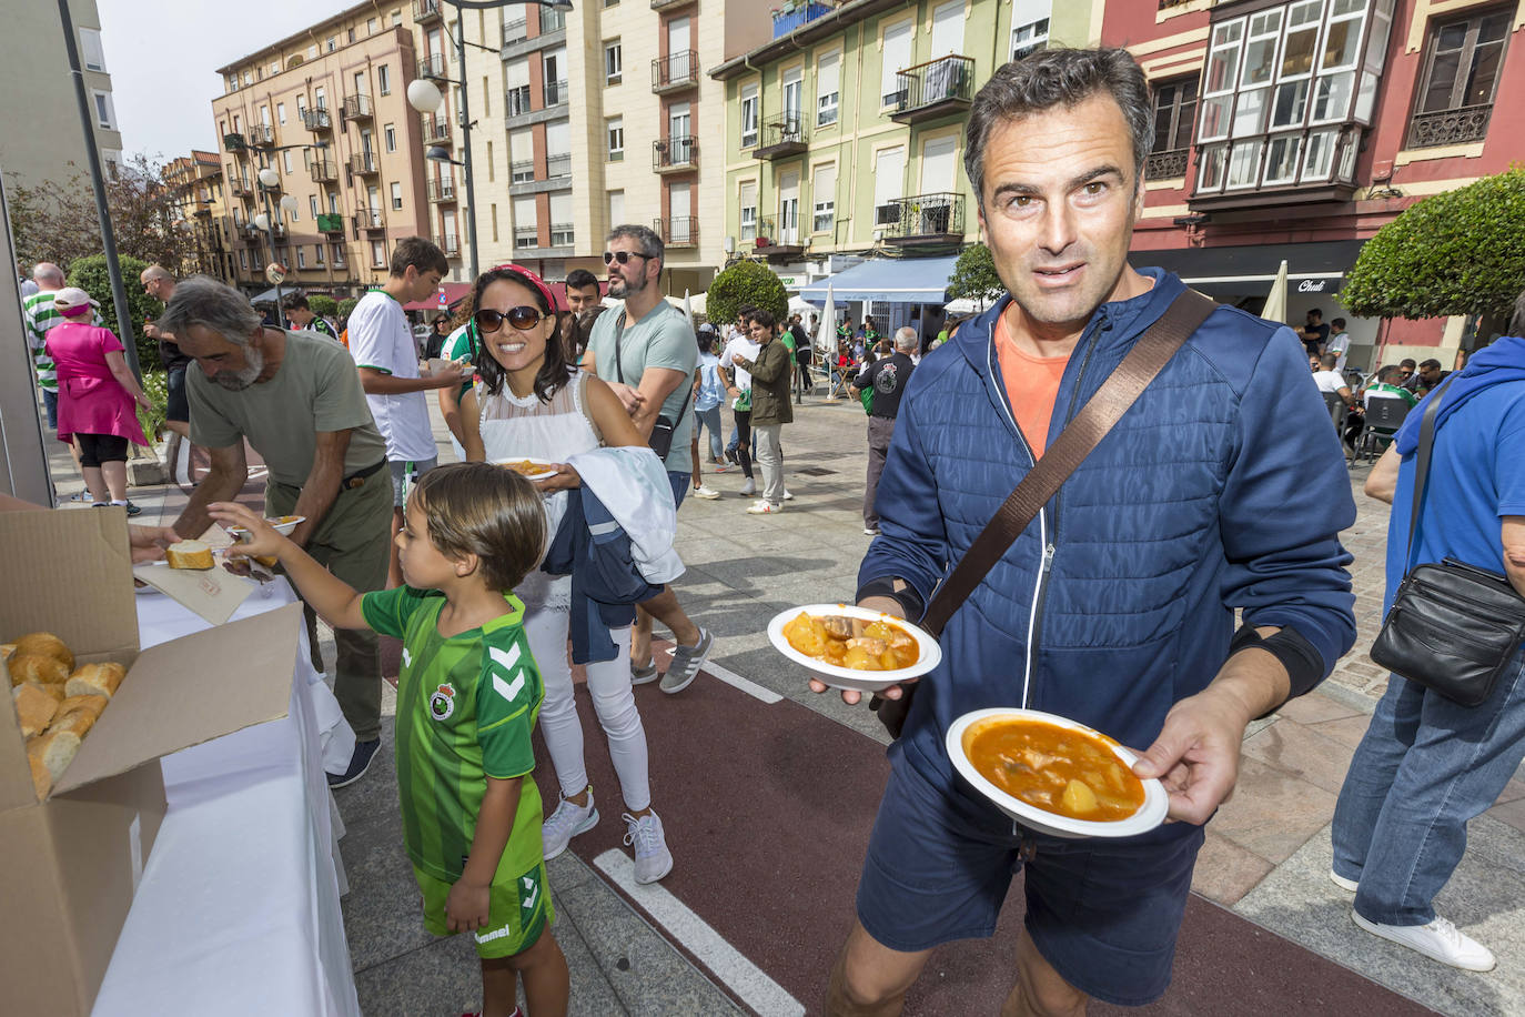
[[508,593],[540,564],[546,509],[540,491],[505,467],[461,462],[421,476],[409,496],[442,555],[476,555],[488,589]]

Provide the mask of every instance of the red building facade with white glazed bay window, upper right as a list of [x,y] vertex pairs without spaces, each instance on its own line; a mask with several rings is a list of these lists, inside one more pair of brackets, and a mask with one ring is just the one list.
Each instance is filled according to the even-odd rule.
[[[1106,8],[1154,87],[1135,264],[1258,311],[1283,259],[1287,320],[1348,319],[1350,363],[1437,357],[1466,319],[1360,320],[1337,300],[1360,244],[1415,201],[1519,159],[1525,3],[1157,0]],[[1380,363],[1379,363],[1380,360]]]

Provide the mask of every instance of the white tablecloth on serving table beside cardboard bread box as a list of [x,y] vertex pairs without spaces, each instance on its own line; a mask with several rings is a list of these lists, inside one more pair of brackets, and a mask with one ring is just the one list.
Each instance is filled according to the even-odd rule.
[[[278,579],[233,619],[294,599]],[[139,598],[137,618],[145,648],[207,628],[157,593]],[[323,776],[325,755],[349,759],[354,732],[313,671],[305,633],[293,663],[290,717],[162,761],[169,811],[96,1017],[358,1017],[339,907],[343,828]]]

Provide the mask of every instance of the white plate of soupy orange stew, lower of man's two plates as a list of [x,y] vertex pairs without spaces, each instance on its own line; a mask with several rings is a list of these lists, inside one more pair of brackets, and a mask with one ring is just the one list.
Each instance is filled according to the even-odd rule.
[[1165,787],[1133,776],[1138,756],[1055,714],[984,709],[949,727],[953,767],[1028,829],[1054,837],[1133,837],[1165,822]]

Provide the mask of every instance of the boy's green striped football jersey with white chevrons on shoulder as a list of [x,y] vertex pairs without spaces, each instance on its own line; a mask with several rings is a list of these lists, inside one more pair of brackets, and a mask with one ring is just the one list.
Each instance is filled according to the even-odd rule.
[[528,872],[541,857],[540,791],[528,775],[546,689],[525,636],[525,605],[503,599],[503,614],[448,639],[439,634],[445,595],[438,590],[404,585],[361,599],[366,624],[403,640],[396,785],[407,857],[450,883],[471,852],[486,778],[526,778],[497,872]]

